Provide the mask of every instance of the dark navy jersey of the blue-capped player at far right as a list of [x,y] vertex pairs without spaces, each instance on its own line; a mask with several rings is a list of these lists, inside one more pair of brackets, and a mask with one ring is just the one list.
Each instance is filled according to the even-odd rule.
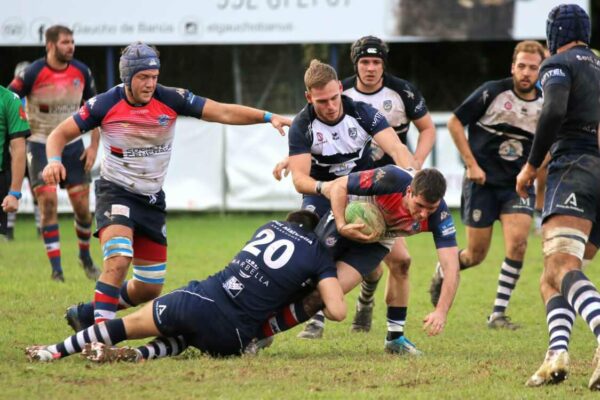
[[600,59],[577,46],[546,59],[540,71],[542,87],[563,85],[569,90],[567,113],[551,148],[563,154],[598,154],[600,122]]

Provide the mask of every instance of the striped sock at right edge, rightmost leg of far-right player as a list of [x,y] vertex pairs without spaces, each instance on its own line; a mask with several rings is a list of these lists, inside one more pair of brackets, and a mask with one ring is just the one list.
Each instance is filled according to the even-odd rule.
[[600,344],[600,293],[579,270],[569,271],[561,282],[561,293],[587,322]]

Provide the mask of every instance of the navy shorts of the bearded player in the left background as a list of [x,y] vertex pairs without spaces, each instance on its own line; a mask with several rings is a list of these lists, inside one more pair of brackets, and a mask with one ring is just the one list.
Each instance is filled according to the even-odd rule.
[[[85,172],[85,162],[79,159],[84,150],[83,140],[65,146],[61,157],[67,171],[67,177],[60,182],[61,188],[89,184],[92,181],[90,174]],[[47,164],[46,145],[44,143],[27,142],[27,171],[31,187],[35,188],[46,184],[42,178],[42,172]]]

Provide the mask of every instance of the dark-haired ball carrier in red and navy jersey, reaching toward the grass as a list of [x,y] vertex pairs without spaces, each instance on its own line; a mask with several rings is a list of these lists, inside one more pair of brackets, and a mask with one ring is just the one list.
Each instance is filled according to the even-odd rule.
[[[331,249],[336,261],[338,279],[344,293],[356,287],[363,276],[377,268],[392,248],[395,238],[432,232],[446,279],[435,310],[424,318],[424,328],[430,335],[437,335],[443,330],[458,288],[456,229],[443,200],[445,191],[444,176],[431,168],[417,172],[414,178],[408,171],[394,165],[354,172],[333,182],[323,183],[322,192],[331,199],[332,211],[321,218],[317,227],[317,234]],[[362,224],[346,223],[344,212],[348,195],[360,196],[358,199],[369,201],[381,210],[387,227],[382,240],[372,242],[376,240],[374,236],[360,232]],[[307,301],[310,305],[305,303],[304,309],[311,311],[307,311],[308,315],[319,310],[319,302],[313,296],[307,297]],[[286,310],[263,326],[259,338],[270,337],[303,322],[301,319],[285,318]],[[404,354],[416,350],[387,337],[384,344],[385,351],[389,353]]]

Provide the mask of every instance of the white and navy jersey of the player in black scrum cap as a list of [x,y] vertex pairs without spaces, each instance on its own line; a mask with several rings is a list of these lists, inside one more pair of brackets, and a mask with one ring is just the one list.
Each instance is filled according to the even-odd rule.
[[394,128],[402,143],[406,144],[410,121],[429,112],[419,89],[404,79],[386,73],[383,74],[383,86],[373,93],[358,90],[356,81],[356,75],[342,81],[344,94],[354,101],[362,101],[378,109]]

